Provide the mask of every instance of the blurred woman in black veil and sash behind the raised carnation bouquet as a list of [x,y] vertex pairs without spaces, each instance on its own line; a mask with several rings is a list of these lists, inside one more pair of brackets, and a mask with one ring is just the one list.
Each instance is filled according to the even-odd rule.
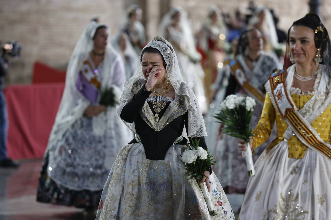
[[[262,48],[263,40],[259,30],[250,29],[241,34],[235,58],[223,67],[224,74],[230,76],[225,96],[219,97],[220,100],[215,100],[215,105],[219,106],[219,103],[231,94],[248,95],[256,99],[258,104],[252,116],[251,127],[257,125],[261,115],[265,94],[263,85],[269,79],[269,75],[279,68],[277,60],[266,54]],[[213,123],[212,130],[219,130],[219,123],[215,121],[211,123]],[[273,135],[271,139],[275,137]],[[214,172],[216,175],[222,176],[220,182],[225,192],[245,193],[249,175],[245,159],[234,147],[237,145],[237,139],[228,135],[221,135],[219,138],[214,155],[215,160],[221,161],[221,163],[214,165]],[[253,155],[254,161],[262,153],[263,146]]]

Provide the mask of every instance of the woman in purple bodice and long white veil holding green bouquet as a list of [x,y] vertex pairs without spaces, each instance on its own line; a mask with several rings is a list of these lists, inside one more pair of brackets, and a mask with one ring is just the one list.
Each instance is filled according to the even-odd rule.
[[121,57],[108,44],[108,35],[105,25],[91,21],[71,55],[43,158],[38,202],[95,211],[118,146],[130,139],[116,106],[99,104],[107,88],[119,99],[125,79]]

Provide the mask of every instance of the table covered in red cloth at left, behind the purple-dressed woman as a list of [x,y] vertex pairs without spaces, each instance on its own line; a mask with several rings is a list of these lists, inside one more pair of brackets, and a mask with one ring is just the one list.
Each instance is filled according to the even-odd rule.
[[8,110],[8,156],[41,158],[54,124],[65,83],[10,85],[5,89]]

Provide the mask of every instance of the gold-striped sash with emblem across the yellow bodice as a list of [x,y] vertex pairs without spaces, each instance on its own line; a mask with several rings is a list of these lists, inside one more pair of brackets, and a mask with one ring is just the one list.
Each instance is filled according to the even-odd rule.
[[331,145],[323,141],[316,130],[300,114],[286,89],[286,70],[270,75],[265,88],[270,95],[274,107],[291,126],[294,134],[307,147],[317,150],[331,160]]

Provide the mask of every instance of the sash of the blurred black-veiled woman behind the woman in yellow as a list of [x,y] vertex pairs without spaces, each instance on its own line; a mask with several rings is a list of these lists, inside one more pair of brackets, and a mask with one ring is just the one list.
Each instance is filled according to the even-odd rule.
[[233,59],[229,62],[229,65],[234,78],[241,85],[241,87],[243,87],[248,94],[252,95],[263,104],[265,98],[264,94],[260,91],[260,89],[255,88],[248,82],[245,72],[239,62],[236,59]]

